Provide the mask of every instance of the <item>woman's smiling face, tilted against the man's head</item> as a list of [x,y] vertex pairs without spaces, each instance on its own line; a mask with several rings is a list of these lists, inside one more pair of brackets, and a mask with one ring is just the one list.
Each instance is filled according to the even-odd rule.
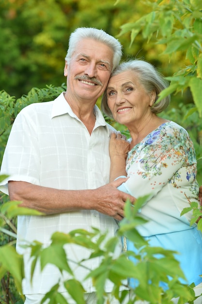
[[139,124],[152,115],[155,91],[147,93],[132,70],[109,79],[107,86],[108,106],[113,118],[125,126]]

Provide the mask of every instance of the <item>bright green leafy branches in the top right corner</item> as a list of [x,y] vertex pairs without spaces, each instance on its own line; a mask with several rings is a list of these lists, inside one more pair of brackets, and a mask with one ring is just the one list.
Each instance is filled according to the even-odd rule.
[[[119,0],[117,1],[119,2]],[[131,32],[131,44],[138,34],[164,45],[164,54],[170,58],[175,52],[184,56],[183,66],[167,77],[171,84],[160,94],[184,92],[190,89],[196,110],[202,117],[202,3],[198,0],[146,1],[151,11],[138,21],[121,26],[120,35]],[[150,45],[151,47],[151,45]]]

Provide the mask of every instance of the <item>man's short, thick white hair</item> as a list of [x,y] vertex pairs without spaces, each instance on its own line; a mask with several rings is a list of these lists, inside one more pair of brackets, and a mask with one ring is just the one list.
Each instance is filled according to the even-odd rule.
[[119,40],[107,34],[103,30],[85,27],[77,28],[70,35],[69,48],[65,57],[65,61],[67,62],[67,64],[70,62],[71,56],[77,49],[78,43],[82,39],[93,39],[106,44],[114,53],[112,71],[119,65],[122,56],[122,45]]

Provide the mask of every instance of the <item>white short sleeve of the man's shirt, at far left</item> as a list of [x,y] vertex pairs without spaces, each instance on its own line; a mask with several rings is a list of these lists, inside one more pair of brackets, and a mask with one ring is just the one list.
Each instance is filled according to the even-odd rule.
[[14,121],[0,171],[0,174],[9,175],[0,184],[0,190],[6,194],[9,180],[39,185],[40,158],[34,117],[32,107],[28,106]]

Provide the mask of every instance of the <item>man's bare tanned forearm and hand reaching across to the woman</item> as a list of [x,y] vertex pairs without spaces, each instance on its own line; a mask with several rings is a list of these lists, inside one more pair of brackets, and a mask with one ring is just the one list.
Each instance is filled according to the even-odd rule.
[[120,178],[105,186],[90,190],[59,190],[33,185],[27,182],[9,181],[8,190],[12,201],[20,201],[21,206],[36,209],[45,214],[71,212],[75,210],[96,210],[122,220],[124,203],[135,198],[117,189],[125,178]]

